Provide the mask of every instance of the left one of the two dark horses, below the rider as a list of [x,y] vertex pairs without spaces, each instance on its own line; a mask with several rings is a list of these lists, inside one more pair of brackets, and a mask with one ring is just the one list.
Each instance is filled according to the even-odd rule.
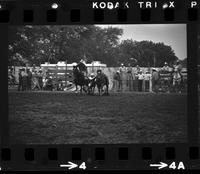
[[78,90],[78,86],[81,87],[80,92],[82,94],[82,91],[84,90],[87,93],[87,90],[89,84],[89,79],[84,76],[84,73],[79,71],[77,66],[74,66],[73,68],[73,75],[74,75],[74,84],[76,86],[76,91]]

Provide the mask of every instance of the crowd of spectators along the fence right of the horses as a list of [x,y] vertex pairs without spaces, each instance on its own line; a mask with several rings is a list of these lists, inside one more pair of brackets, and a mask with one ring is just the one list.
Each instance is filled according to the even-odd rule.
[[[159,90],[170,92],[175,86],[182,88],[182,82],[182,66],[179,61],[177,61],[172,67],[165,62],[164,66],[160,69],[147,68],[146,70],[142,70],[138,65],[136,67],[131,67],[130,64],[128,64],[126,67],[122,63],[120,68],[113,75],[112,90],[117,92],[158,92]],[[186,81],[184,81],[184,83],[186,83]]]

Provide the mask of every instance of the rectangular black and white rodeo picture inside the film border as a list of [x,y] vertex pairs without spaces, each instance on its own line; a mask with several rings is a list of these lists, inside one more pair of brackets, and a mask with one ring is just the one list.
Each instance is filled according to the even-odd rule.
[[10,144],[187,143],[186,24],[8,28]]

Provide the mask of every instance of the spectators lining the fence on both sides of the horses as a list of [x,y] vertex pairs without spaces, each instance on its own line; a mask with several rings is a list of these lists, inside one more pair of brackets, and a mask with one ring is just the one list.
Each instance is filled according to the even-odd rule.
[[[167,62],[161,69],[156,68],[140,68],[139,65],[132,67],[131,64],[125,66],[123,63],[113,73],[112,87],[113,92],[124,91],[138,91],[138,92],[157,92],[160,86],[164,86],[169,90],[173,83],[174,73],[177,73],[176,77],[181,78],[182,67],[179,61],[170,67]],[[15,76],[13,70],[9,69],[9,81],[11,84],[15,83]],[[162,75],[162,78],[161,78]],[[90,75],[88,75],[90,76]],[[170,78],[169,78],[170,76]],[[18,91],[30,91],[30,90],[53,90],[55,79],[48,71],[44,71],[41,68],[20,68],[18,72]],[[62,81],[57,81],[56,90],[63,90],[65,84]]]

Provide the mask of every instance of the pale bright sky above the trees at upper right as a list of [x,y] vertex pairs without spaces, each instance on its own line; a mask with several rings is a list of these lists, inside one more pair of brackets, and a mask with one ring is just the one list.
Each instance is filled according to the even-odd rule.
[[122,28],[124,33],[120,40],[133,39],[136,41],[151,40],[170,45],[179,59],[187,57],[186,24],[124,24],[124,25],[97,25],[103,28],[108,26]]

